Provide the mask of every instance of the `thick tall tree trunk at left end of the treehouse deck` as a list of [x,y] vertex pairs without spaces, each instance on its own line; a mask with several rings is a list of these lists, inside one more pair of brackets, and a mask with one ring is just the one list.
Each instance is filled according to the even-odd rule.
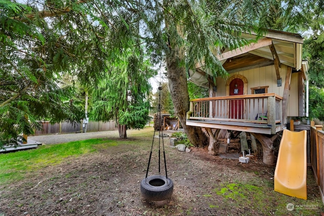
[[[180,54],[179,54],[180,53]],[[173,51],[166,55],[167,76],[175,114],[178,116],[191,144],[195,147],[208,145],[208,139],[200,127],[186,125],[186,113],[189,111],[187,75],[184,66],[179,66],[181,52]]]

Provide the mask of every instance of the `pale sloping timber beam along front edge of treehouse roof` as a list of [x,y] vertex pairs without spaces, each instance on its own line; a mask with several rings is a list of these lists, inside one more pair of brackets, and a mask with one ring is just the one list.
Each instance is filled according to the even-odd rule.
[[253,51],[262,47],[267,47],[272,45],[272,39],[271,38],[263,38],[258,40],[256,43],[251,43],[250,45],[246,45],[240,48],[237,48],[232,51],[228,51],[226,53],[222,53],[221,55],[216,56],[219,61],[222,61],[224,59],[229,59],[244,53],[248,53],[249,51]]

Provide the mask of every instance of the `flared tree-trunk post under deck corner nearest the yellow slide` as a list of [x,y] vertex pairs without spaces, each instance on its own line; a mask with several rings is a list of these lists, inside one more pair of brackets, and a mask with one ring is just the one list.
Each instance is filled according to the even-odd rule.
[[273,142],[277,138],[277,134],[273,135],[272,137],[267,137],[264,134],[256,134],[251,133],[253,136],[260,141],[263,150],[263,162],[267,165],[275,164],[274,159],[274,149],[273,149]]

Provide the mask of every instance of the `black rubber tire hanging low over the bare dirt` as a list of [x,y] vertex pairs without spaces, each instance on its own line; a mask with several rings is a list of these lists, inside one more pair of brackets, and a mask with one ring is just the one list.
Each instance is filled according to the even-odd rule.
[[142,196],[149,201],[166,200],[172,196],[173,181],[164,176],[150,176],[141,181]]

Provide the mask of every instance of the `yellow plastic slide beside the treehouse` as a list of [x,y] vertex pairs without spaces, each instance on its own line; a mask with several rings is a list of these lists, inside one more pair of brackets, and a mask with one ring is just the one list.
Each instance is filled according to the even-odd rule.
[[306,131],[284,130],[274,171],[274,191],[307,199]]

